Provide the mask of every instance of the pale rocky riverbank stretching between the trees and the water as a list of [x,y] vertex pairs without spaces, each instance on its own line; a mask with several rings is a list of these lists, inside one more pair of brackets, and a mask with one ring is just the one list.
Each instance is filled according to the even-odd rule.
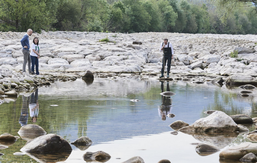
[[[40,75],[29,75],[21,73],[23,54],[20,39],[24,34],[0,32],[0,88],[3,91],[30,89],[56,80],[75,80],[87,70],[95,77],[115,79],[141,75],[141,79],[157,79],[162,64],[162,53],[158,49],[164,38],[169,39],[175,51],[170,72],[172,79],[201,84],[222,76],[215,82],[257,84],[256,35],[33,33],[30,42],[34,37],[39,38]],[[99,42],[106,37],[110,42]],[[239,53],[237,58],[229,56],[234,50]],[[24,78],[30,78],[30,81]],[[245,78],[248,81],[242,82]]]

